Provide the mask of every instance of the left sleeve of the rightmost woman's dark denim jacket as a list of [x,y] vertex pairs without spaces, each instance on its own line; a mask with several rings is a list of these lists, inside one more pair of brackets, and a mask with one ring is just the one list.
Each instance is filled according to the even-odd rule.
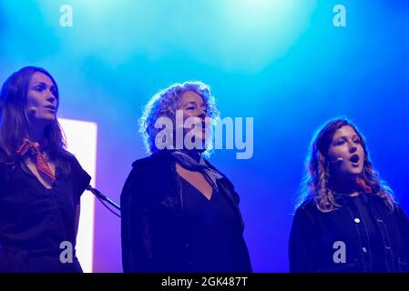
[[291,226],[289,243],[291,273],[320,272],[318,256],[313,252],[319,247],[317,236],[319,234],[313,225],[312,217],[300,207],[295,213]]

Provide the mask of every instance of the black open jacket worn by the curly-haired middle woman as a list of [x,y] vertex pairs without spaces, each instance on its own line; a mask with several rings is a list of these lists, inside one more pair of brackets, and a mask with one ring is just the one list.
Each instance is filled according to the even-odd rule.
[[[175,165],[167,151],[137,160],[132,165],[121,194],[124,272],[189,272],[191,254],[182,216],[181,182]],[[238,206],[239,196],[226,177],[218,180],[218,186],[237,214],[237,231],[240,232],[237,272],[251,272],[242,236],[244,224]]]

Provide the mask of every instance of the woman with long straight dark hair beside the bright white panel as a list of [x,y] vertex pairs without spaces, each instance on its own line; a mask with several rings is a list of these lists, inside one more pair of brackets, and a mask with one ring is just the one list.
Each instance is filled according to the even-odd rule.
[[65,149],[53,76],[26,66],[0,95],[0,272],[82,272],[75,254],[90,176]]

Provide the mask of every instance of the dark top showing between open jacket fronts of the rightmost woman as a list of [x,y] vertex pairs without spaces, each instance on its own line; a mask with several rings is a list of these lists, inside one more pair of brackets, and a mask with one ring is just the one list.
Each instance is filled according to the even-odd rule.
[[368,195],[363,193],[351,197],[351,200],[358,209],[363,220],[362,223],[368,232],[371,272],[386,272],[383,238],[370,209]]

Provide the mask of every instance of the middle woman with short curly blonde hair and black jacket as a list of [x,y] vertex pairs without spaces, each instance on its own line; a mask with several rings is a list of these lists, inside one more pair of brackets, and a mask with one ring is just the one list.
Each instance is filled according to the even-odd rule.
[[201,82],[171,85],[146,105],[151,155],[133,163],[121,194],[125,272],[251,272],[239,196],[203,158],[218,116]]

